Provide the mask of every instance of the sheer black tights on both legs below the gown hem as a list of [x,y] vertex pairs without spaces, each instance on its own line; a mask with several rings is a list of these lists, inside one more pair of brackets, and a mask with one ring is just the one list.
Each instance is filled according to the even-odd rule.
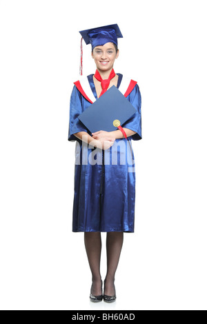
[[[119,263],[121,247],[123,245],[123,232],[108,232],[106,236],[107,273],[105,278],[105,290],[103,294],[112,296],[115,294],[115,272]],[[84,242],[88,262],[92,273],[92,294],[101,295],[101,233],[85,232]]]

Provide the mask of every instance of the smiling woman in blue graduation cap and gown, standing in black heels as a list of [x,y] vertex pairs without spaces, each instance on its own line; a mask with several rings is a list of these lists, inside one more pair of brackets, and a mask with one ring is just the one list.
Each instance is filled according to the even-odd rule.
[[[72,231],[84,232],[92,272],[90,300],[112,302],[116,299],[115,272],[124,232],[134,232],[135,165],[131,140],[141,139],[141,94],[136,81],[115,74],[113,70],[115,59],[119,57],[117,38],[122,37],[117,24],[80,33],[86,44],[92,45],[92,59],[97,70],[75,82],[70,99],[68,140],[77,141]],[[90,133],[78,116],[112,85],[132,103],[136,113],[121,130]],[[113,163],[114,154],[117,154],[117,163]],[[119,163],[123,158],[124,163]],[[107,273],[103,293],[101,232],[107,232]]]

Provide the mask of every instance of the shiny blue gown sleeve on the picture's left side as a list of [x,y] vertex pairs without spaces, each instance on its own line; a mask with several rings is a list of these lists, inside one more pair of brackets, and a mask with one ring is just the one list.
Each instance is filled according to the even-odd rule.
[[68,130],[68,141],[78,141],[77,137],[73,134],[77,132],[87,132],[83,123],[79,121],[78,116],[83,112],[82,108],[82,95],[74,85],[70,97],[70,121]]

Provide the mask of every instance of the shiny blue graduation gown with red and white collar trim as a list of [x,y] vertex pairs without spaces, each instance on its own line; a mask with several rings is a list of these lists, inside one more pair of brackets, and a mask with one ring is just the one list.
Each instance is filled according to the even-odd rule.
[[72,232],[134,232],[135,161],[132,140],[141,139],[141,94],[136,81],[118,75],[117,88],[137,112],[122,125],[136,132],[108,150],[92,148],[73,134],[90,131],[78,116],[95,100],[92,76],[75,82],[70,97],[68,141],[76,141]]

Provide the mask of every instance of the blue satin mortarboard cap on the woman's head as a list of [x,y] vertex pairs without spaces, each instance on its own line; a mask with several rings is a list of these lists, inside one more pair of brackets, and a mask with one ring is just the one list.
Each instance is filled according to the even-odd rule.
[[92,50],[95,48],[95,46],[102,46],[108,42],[112,42],[117,45],[117,38],[123,37],[117,23],[114,25],[82,30],[79,33],[86,42],[86,45],[91,43]]

